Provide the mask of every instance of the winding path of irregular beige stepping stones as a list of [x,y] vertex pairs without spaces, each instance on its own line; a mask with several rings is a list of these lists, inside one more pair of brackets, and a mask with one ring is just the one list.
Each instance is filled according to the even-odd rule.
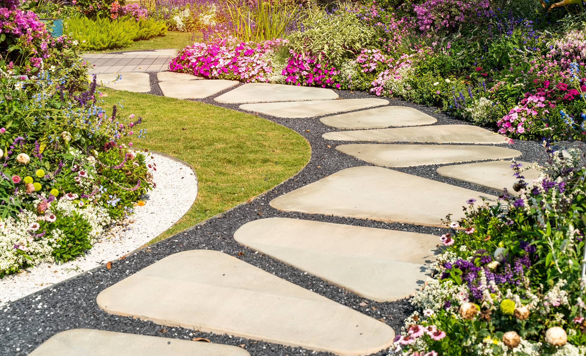
[[[504,136],[471,125],[434,125],[435,118],[423,112],[389,105],[389,101],[378,98],[338,100],[338,94],[328,89],[283,88],[260,83],[233,88],[237,83],[196,80],[185,74],[168,72],[160,72],[156,78],[166,96],[195,99],[223,93],[214,100],[241,104],[240,109],[255,114],[262,112],[276,118],[322,117],[321,122],[326,125],[354,129],[327,132],[323,140],[332,145],[341,141],[343,144],[336,149],[363,160],[362,166],[341,169],[287,193],[278,193],[270,200],[270,206],[281,215],[257,217],[245,224],[236,222],[239,228],[233,238],[257,254],[261,252],[287,263],[302,274],[318,276],[370,303],[397,301],[423,286],[430,272],[428,266],[441,251],[437,247],[438,236],[290,218],[288,216],[294,215],[284,212],[439,227],[441,219],[449,213],[455,214],[454,219],[463,217],[461,207],[469,198],[496,204],[497,197],[380,166],[493,160],[495,163],[451,165],[438,172],[498,190],[515,181],[512,170],[507,170],[510,163],[499,160],[522,155],[519,150],[495,146],[508,142]],[[107,77],[98,75],[98,80],[102,79],[108,81]],[[126,85],[132,91],[152,90],[152,81],[147,87],[145,81],[138,83],[132,77],[125,80],[123,73],[121,81],[113,87]],[[336,115],[323,117],[331,114]],[[371,143],[373,141],[384,143]],[[411,145],[413,142],[424,144]],[[367,162],[379,166],[370,166]],[[316,167],[319,168],[321,166]],[[258,215],[262,215],[260,207]],[[438,229],[435,230],[437,233]],[[229,236],[231,238],[232,234]],[[342,356],[372,354],[393,343],[394,330],[381,322],[384,318],[377,320],[336,303],[313,289],[280,278],[275,272],[263,271],[265,268],[234,258],[223,249],[213,251],[204,244],[199,249],[177,251],[148,263],[138,272],[122,276],[101,290],[96,298],[97,305],[107,313],[132,316],[163,326]],[[362,302],[360,306],[366,307],[368,303]],[[141,333],[140,330],[136,332]],[[62,332],[46,341],[39,350],[85,345],[84,340],[94,333],[96,331],[81,329],[75,333]],[[110,337],[128,338],[129,343],[138,340],[131,334],[100,334],[97,340]],[[169,343],[176,347],[175,341]],[[93,350],[104,351],[104,354],[108,354],[109,347],[108,343],[91,343]],[[225,347],[218,352],[243,354],[243,350]],[[38,353],[41,354],[47,353]],[[33,352],[32,355],[37,354]]]

